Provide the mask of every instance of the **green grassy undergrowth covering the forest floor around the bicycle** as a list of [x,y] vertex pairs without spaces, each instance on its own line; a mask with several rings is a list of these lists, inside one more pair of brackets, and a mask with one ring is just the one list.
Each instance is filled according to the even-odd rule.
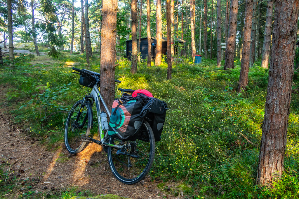
[[[97,56],[89,69],[99,72]],[[16,120],[26,121],[30,133],[54,148],[63,140],[68,110],[87,93],[68,66],[76,62],[76,67],[85,67],[85,55],[62,53],[54,60],[59,64],[50,62],[47,67],[31,64],[34,59],[21,56],[15,68],[1,67],[0,83],[8,85],[6,98]],[[148,68],[141,63],[138,72],[131,74],[131,63],[120,62],[115,78],[122,83],[117,88],[147,89],[168,104],[162,139],[156,143],[152,180],[183,182],[174,195],[184,189],[186,195],[197,198],[298,198],[298,72],[293,79],[285,173],[271,189],[255,185],[268,84],[268,70],[258,64],[249,70],[247,90],[237,93],[239,61],[235,69],[224,71],[216,67],[215,60],[199,65],[184,60],[173,64],[171,80],[167,80],[166,64]],[[115,96],[120,96],[118,90]]]

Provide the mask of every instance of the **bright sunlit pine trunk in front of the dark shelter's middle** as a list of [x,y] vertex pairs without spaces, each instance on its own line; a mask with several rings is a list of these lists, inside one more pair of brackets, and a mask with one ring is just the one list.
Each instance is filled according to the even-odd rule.
[[162,18],[161,18],[161,0],[157,0],[157,7],[156,7],[156,58],[155,58],[155,66],[161,65],[161,58],[162,58]]

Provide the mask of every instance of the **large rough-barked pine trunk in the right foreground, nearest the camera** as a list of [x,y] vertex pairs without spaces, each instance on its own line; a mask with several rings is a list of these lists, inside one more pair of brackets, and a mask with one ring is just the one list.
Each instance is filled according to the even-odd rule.
[[257,183],[273,183],[283,172],[294,74],[299,0],[276,0],[269,81],[260,141]]

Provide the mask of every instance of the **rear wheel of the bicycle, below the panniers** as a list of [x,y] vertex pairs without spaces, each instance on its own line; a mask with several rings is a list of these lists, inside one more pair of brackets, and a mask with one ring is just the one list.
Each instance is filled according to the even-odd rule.
[[126,145],[125,149],[108,147],[108,160],[113,175],[122,183],[135,184],[149,172],[155,157],[155,138],[152,128],[144,121],[141,131],[149,141],[121,141],[110,137],[109,144]]

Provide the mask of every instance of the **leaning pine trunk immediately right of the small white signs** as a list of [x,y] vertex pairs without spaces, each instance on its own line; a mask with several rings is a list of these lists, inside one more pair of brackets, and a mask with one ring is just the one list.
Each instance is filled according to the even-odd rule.
[[234,68],[236,34],[237,34],[237,16],[238,16],[238,0],[231,0],[231,9],[229,17],[228,39],[225,49],[224,70]]

